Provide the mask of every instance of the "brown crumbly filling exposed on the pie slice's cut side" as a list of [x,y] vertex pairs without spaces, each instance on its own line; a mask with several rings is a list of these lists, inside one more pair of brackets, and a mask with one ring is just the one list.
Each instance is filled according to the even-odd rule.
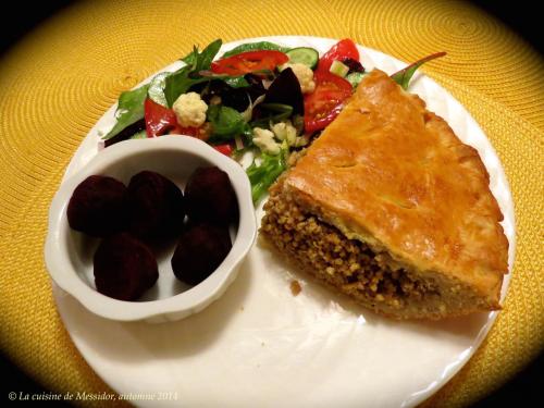
[[336,227],[306,213],[281,190],[271,191],[261,233],[306,272],[369,306],[381,304],[396,309],[408,300],[420,302],[438,295],[433,282],[415,279],[387,252],[376,254],[367,244],[348,239]]

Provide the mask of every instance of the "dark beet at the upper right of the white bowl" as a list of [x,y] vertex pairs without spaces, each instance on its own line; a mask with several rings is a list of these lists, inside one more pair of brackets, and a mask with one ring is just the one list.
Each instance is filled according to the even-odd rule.
[[238,215],[238,201],[228,174],[219,168],[198,168],[185,187],[187,215],[194,221],[207,220],[228,224]]

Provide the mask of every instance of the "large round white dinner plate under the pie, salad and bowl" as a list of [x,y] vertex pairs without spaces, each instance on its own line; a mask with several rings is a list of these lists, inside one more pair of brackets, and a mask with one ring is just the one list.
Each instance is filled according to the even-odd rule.
[[[336,42],[316,37],[251,38],[224,45],[220,54],[257,40],[320,52]],[[406,65],[375,50],[359,47],[359,51],[367,70],[375,66],[391,74]],[[178,66],[176,62],[164,71]],[[505,217],[511,271],[514,206],[493,147],[465,108],[432,79],[417,74],[410,91],[480,152]],[[89,132],[65,177],[98,153],[98,132],[113,124],[114,109]],[[262,210],[257,214],[260,219]],[[289,289],[294,279],[302,287],[298,296]],[[503,284],[503,300],[509,279]],[[66,330],[90,367],[118,393],[145,407],[415,406],[459,371],[497,314],[442,322],[388,320],[289,269],[259,239],[223,297],[182,321],[109,321],[54,284],[53,293]]]

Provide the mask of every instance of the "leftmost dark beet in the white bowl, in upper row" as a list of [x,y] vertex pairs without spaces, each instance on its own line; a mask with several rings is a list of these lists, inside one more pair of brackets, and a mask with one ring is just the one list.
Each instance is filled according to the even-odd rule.
[[126,187],[115,178],[91,175],[72,194],[66,214],[73,230],[104,237],[123,226],[123,196]]

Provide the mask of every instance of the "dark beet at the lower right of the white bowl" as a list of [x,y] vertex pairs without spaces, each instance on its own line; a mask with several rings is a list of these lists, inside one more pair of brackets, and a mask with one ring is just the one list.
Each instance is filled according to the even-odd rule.
[[197,285],[218,269],[231,247],[226,227],[209,223],[190,226],[177,243],[172,270],[180,281]]

